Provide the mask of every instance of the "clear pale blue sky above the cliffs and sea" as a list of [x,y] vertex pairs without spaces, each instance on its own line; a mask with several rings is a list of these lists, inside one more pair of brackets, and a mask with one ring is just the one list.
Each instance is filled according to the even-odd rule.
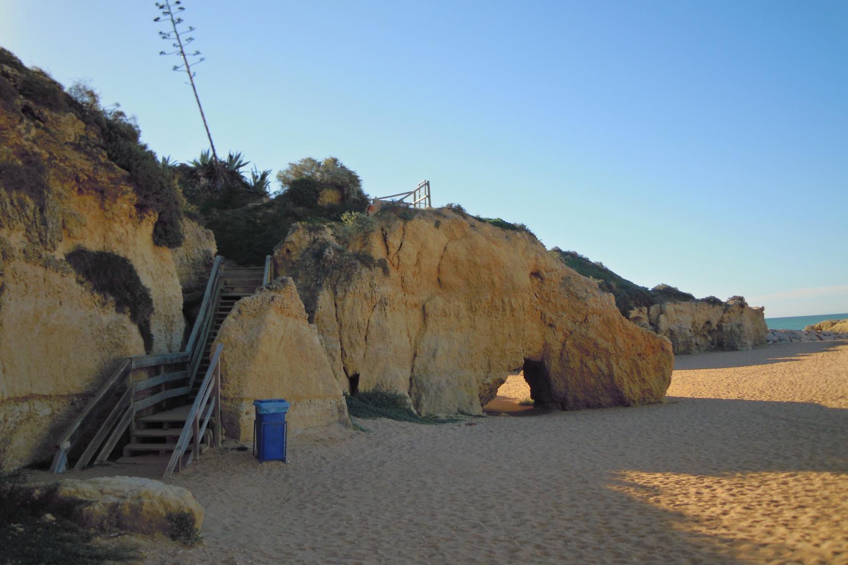
[[[848,312],[848,3],[186,0],[220,153],[527,224],[648,287]],[[0,45],[209,146],[153,2],[0,0]]]

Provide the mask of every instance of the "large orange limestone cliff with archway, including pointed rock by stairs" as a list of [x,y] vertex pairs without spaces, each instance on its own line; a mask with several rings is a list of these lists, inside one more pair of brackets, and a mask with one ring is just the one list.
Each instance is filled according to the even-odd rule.
[[[318,382],[332,392],[332,375],[336,391],[399,392],[424,415],[478,414],[522,368],[533,399],[563,409],[659,402],[670,382],[669,341],[623,319],[610,295],[521,231],[448,209],[388,210],[346,226],[298,224],[274,257],[299,297],[284,283],[245,300],[250,311],[220,332],[225,344],[249,340],[250,356],[269,360],[261,379],[269,396],[305,395]],[[289,337],[241,337],[282,325]],[[300,375],[274,366],[303,358],[315,339],[326,367],[312,359]],[[226,396],[250,399],[251,385],[231,374],[260,365],[237,355],[226,361]],[[237,404],[232,418],[246,409]]]

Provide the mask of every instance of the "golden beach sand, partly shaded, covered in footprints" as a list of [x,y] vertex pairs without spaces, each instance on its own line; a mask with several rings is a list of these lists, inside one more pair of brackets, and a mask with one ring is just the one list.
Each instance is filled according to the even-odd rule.
[[137,539],[149,563],[848,563],[848,344],[678,357],[668,393],[215,451],[171,479],[204,543]]

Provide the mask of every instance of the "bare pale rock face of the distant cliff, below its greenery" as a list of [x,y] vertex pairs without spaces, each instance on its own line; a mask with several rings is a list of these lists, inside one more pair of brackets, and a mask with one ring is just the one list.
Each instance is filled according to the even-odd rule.
[[749,307],[739,300],[662,302],[633,308],[628,319],[646,330],[665,335],[672,341],[676,355],[735,351],[766,343],[763,308]]

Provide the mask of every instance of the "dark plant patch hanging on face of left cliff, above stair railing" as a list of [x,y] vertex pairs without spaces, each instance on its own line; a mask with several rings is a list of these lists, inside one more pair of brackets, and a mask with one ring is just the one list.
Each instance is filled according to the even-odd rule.
[[144,349],[149,353],[153,348],[153,333],[150,331],[153,299],[132,263],[116,253],[94,252],[82,247],[68,253],[65,259],[77,274],[92,284],[95,291],[114,299],[115,310],[130,314],[132,323],[142,333]]

